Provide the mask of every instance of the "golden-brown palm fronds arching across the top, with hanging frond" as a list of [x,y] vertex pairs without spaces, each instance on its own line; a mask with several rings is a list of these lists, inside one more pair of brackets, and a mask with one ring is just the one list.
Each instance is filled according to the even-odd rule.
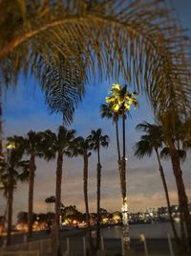
[[122,74],[135,89],[145,89],[155,110],[175,102],[169,97],[173,92],[183,106],[179,113],[189,112],[189,38],[171,12],[161,14],[168,13],[162,3],[20,0],[12,5],[2,0],[0,10],[2,82],[16,81],[23,70],[32,74],[41,81],[53,111],[63,112],[65,105],[67,112],[68,103],[66,119],[71,119],[84,82],[97,66],[100,75],[117,79]]

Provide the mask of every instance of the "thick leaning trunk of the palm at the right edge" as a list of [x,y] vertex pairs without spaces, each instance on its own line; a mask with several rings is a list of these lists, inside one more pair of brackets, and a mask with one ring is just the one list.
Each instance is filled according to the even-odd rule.
[[180,169],[180,156],[179,156],[179,152],[173,146],[170,147],[170,155],[171,155],[171,162],[172,162],[173,171],[174,171],[177,188],[178,188],[180,216],[182,216],[183,218],[182,221],[185,221],[188,244],[189,244],[189,247],[191,248],[191,216],[189,213],[188,199],[185,193],[185,187],[182,179],[182,172]]

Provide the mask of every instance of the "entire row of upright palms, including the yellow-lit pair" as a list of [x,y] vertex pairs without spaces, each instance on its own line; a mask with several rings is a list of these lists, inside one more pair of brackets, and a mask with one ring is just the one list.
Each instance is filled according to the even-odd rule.
[[[136,93],[129,93],[127,91],[127,85],[120,86],[119,84],[114,84],[110,96],[106,98],[106,104],[101,105],[101,116],[112,118],[114,124],[116,125],[116,133],[117,133],[117,163],[118,163],[118,172],[120,178],[120,187],[121,187],[121,195],[122,195],[122,214],[123,214],[123,224],[124,224],[124,244],[126,249],[129,249],[129,228],[128,228],[128,205],[127,205],[127,191],[126,191],[126,156],[125,156],[125,121],[127,118],[127,114],[129,114],[131,105],[138,105]],[[120,150],[120,142],[119,142],[119,134],[118,134],[118,122],[119,119],[122,119],[122,156]],[[177,158],[176,161],[180,164],[180,159],[184,155],[183,151],[180,149],[181,147],[190,147],[190,137],[188,135],[184,135],[183,131],[186,132],[189,130],[189,121],[186,121],[184,124],[180,124],[178,128],[181,133],[179,133],[179,137],[174,138],[175,145],[179,145],[177,149]],[[177,128],[177,132],[178,132]],[[163,172],[163,168],[160,162],[160,156],[169,155],[172,160],[172,164],[175,156],[172,155],[172,149],[169,147],[165,140],[165,133],[162,129],[162,126],[159,124],[151,125],[146,122],[139,124],[137,127],[138,130],[145,131],[146,134],[142,135],[140,141],[135,146],[135,155],[139,158],[144,155],[150,155],[152,151],[156,151],[158,161],[159,161],[159,173],[161,175],[165,197],[167,201],[169,217],[172,224],[172,229],[174,231],[174,236],[179,244],[180,241],[178,239],[177,231],[175,228],[175,224],[172,218],[171,210],[170,210],[170,200],[168,196],[168,189],[165,181],[165,176]],[[184,131],[184,133],[185,133]],[[181,137],[180,137],[181,134]],[[187,134],[187,133],[186,133]],[[189,133],[188,133],[189,134]],[[171,136],[174,134],[172,133]],[[178,135],[177,135],[178,136]],[[11,205],[12,194],[13,194],[13,183],[11,179],[6,180],[6,176],[12,172],[13,169],[22,169],[22,175],[13,175],[15,177],[25,177],[24,179],[29,180],[29,233],[28,239],[31,239],[32,236],[32,209],[33,209],[33,182],[34,182],[34,174],[35,174],[35,157],[44,157],[47,160],[57,159],[56,164],[56,191],[55,191],[55,220],[57,224],[59,224],[59,216],[60,216],[60,203],[61,203],[61,180],[62,180],[62,166],[63,166],[63,156],[76,156],[81,155],[84,161],[83,168],[83,180],[84,180],[84,200],[85,200],[85,209],[86,209],[86,221],[89,226],[89,238],[91,243],[91,230],[90,230],[90,217],[89,217],[89,206],[88,206],[88,164],[89,164],[89,156],[91,155],[91,151],[94,149],[97,152],[97,240],[96,246],[99,247],[99,212],[100,212],[100,177],[101,177],[101,164],[100,164],[100,147],[108,146],[108,136],[102,135],[101,129],[93,130],[91,135],[83,138],[76,137],[75,131],[67,130],[64,127],[59,127],[58,132],[54,133],[51,130],[46,130],[44,132],[34,132],[30,131],[27,134],[27,137],[21,136],[13,136],[8,138],[9,143],[14,143],[15,149],[11,149],[11,152],[8,154],[9,159],[7,159],[8,163],[3,166],[4,170],[7,170],[2,177],[4,178],[5,183],[5,191],[7,191],[7,195],[9,198],[9,205]],[[159,149],[165,145],[166,147],[160,152]],[[172,147],[172,146],[171,146]],[[30,160],[23,161],[22,156],[24,154],[30,155]],[[173,158],[174,157],[174,158]],[[172,159],[173,158],[173,159]],[[178,174],[176,173],[178,169]],[[11,172],[8,170],[12,170]],[[183,184],[183,180],[181,177],[181,173],[179,173],[180,165],[173,165],[174,174],[179,175],[179,182],[177,182],[178,186],[178,195],[180,202],[180,223],[181,223],[181,242],[184,240],[183,233],[183,222],[186,223],[186,230],[188,234],[188,240],[190,240],[190,215],[188,209],[187,197],[185,194],[185,188]],[[17,170],[16,170],[17,171]],[[10,172],[10,173],[9,173]],[[19,172],[17,172],[19,174]],[[177,178],[177,176],[176,176]],[[178,178],[177,178],[178,179]],[[8,186],[6,186],[6,183]],[[10,185],[11,184],[11,185]],[[181,201],[181,200],[186,201]],[[9,223],[11,229],[11,207],[9,208]],[[9,231],[9,228],[8,228]],[[9,231],[10,232],[10,231]],[[8,233],[9,233],[8,232]],[[8,244],[10,244],[10,239],[8,239]]]

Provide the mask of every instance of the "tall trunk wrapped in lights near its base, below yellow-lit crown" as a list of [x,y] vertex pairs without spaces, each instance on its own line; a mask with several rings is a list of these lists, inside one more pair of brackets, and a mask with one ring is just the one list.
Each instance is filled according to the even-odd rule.
[[122,220],[123,220],[123,247],[124,255],[129,254],[130,250],[130,236],[129,236],[129,222],[128,222],[128,204],[127,204],[127,191],[126,191],[126,147],[125,147],[125,114],[122,113],[122,142],[123,154],[121,162],[121,175],[122,175]]

